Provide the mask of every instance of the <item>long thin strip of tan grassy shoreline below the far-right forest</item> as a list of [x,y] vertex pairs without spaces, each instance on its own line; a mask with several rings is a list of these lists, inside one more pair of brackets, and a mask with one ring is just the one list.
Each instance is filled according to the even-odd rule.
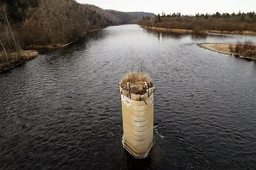
[[225,33],[225,34],[237,34],[237,35],[256,35],[256,32],[253,31],[217,31],[217,30],[203,30],[203,31],[195,31],[193,29],[170,29],[170,28],[162,28],[162,27],[147,27],[145,25],[141,25],[143,28],[152,29],[155,31],[165,31],[165,32],[178,32],[178,33]]

